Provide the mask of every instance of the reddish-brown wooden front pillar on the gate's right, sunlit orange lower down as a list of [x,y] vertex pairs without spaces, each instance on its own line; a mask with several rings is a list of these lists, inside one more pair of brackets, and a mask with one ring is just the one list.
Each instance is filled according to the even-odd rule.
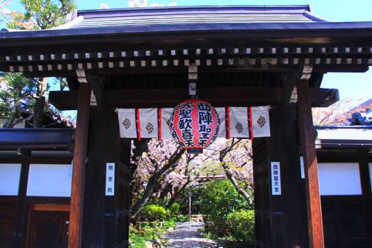
[[305,193],[307,202],[310,248],[324,248],[322,210],[319,193],[318,163],[315,134],[312,124],[311,99],[308,80],[297,84],[299,130],[304,156]]

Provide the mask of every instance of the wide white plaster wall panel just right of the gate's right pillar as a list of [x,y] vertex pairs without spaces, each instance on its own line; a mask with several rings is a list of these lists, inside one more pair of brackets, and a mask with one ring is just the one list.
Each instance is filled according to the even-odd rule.
[[320,195],[361,195],[358,163],[318,163]]

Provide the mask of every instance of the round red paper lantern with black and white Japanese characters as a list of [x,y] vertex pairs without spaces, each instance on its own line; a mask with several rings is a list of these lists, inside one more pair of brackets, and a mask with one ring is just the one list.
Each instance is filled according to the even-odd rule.
[[206,101],[189,99],[178,104],[170,115],[168,126],[172,137],[189,153],[201,153],[219,133],[219,116]]

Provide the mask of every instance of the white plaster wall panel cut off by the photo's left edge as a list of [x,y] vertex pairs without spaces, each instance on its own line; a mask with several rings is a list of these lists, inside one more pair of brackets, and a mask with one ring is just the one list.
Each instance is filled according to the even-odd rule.
[[0,164],[0,195],[18,195],[20,164]]

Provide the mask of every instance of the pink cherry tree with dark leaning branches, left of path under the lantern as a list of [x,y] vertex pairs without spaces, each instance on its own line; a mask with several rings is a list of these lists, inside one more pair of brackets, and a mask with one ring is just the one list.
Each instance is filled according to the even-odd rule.
[[137,217],[149,200],[163,199],[171,193],[168,203],[171,206],[184,189],[197,185],[201,173],[212,165],[197,160],[199,157],[201,154],[187,154],[173,139],[134,140],[131,155],[132,218]]

